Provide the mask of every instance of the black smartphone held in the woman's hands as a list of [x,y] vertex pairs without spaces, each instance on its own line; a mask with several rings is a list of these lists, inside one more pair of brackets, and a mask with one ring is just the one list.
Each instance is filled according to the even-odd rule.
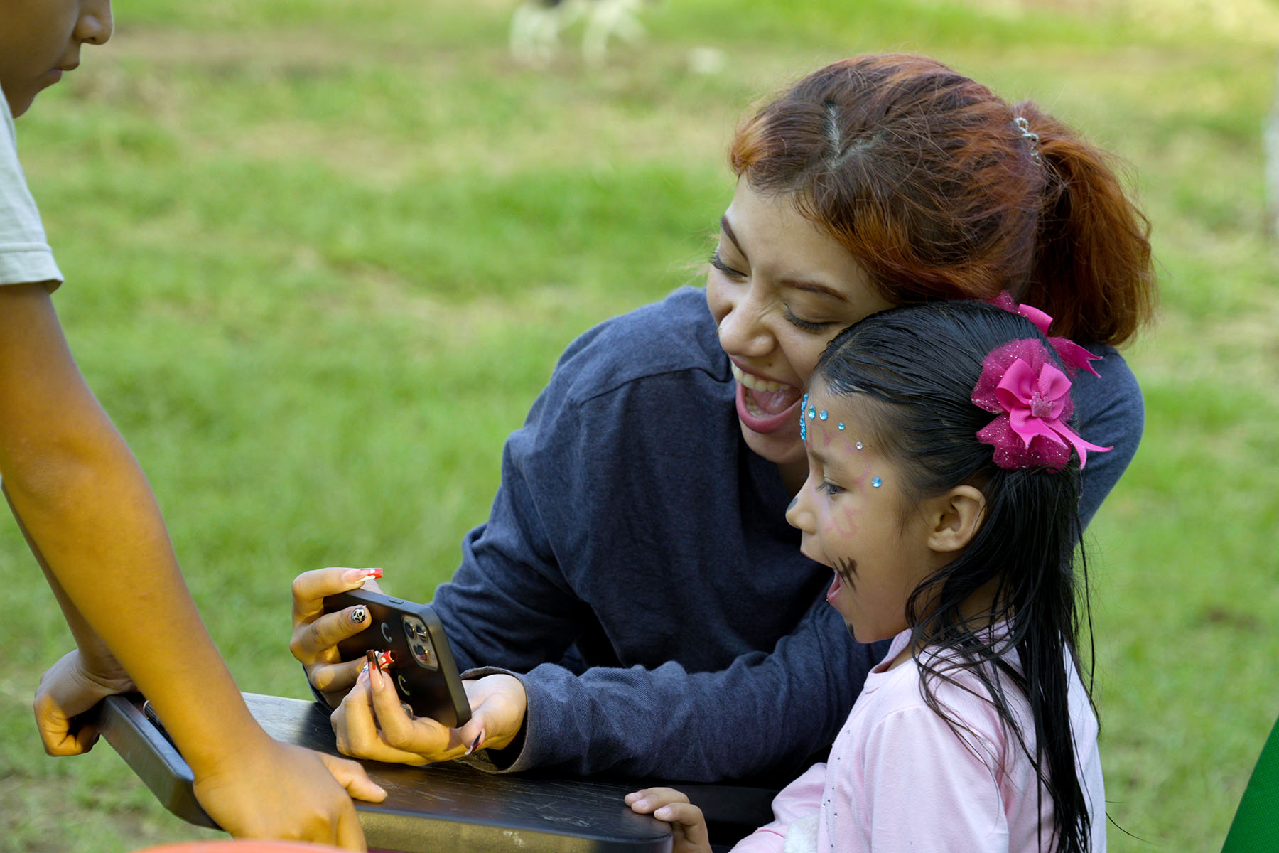
[[389,651],[391,661],[382,671],[395,683],[400,700],[413,708],[413,716],[428,716],[454,729],[469,720],[471,702],[435,611],[425,604],[370,590],[352,590],[324,600],[329,613],[356,605],[365,605],[368,611],[368,627],[338,643],[341,659],[365,657],[368,650]]

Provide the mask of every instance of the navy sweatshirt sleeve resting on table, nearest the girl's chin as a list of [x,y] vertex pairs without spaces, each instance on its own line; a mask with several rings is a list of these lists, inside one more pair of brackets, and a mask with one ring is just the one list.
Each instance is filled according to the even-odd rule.
[[819,600],[771,653],[743,655],[715,673],[668,662],[576,675],[542,664],[519,675],[524,740],[498,769],[680,781],[789,776],[830,744],[885,648],[853,642]]

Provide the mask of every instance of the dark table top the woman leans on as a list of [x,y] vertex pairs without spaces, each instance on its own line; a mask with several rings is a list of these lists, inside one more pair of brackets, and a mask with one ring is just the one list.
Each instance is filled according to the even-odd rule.
[[[256,693],[246,693],[244,700],[278,740],[339,755],[329,716],[316,703]],[[104,739],[165,808],[188,822],[215,826],[196,802],[191,769],[143,715],[141,696],[109,697],[96,711]],[[670,850],[666,825],[633,813],[622,802],[637,783],[487,774],[457,762],[425,767],[361,763],[388,792],[381,803],[356,803],[371,848],[403,853]],[[679,788],[702,807],[723,844],[771,820],[769,802],[775,792],[734,785]]]

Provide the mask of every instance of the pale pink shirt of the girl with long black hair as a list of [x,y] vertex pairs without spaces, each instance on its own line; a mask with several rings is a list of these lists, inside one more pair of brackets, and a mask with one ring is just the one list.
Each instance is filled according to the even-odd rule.
[[[969,751],[923,702],[914,660],[888,669],[908,641],[909,632],[898,634],[871,670],[828,763],[813,765],[787,785],[773,803],[776,820],[743,839],[734,853],[1051,849],[1051,801],[1044,792],[1042,813],[1037,811],[1035,770],[1005,735],[985,689],[963,674],[957,677],[961,684],[978,696],[935,683],[938,700],[972,730],[966,735]],[[1016,652],[1009,655],[1016,665]],[[1068,670],[1077,771],[1092,817],[1090,849],[1104,853],[1097,720],[1074,666]],[[1009,691],[1009,701],[1022,730],[1033,738],[1030,706],[1016,691]]]

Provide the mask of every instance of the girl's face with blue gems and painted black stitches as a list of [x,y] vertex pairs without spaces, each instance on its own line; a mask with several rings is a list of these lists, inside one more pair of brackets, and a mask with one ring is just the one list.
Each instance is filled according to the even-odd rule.
[[862,409],[813,381],[803,411],[808,480],[787,520],[803,532],[801,551],[835,570],[826,601],[870,643],[906,630],[906,601],[938,563],[923,515],[906,505],[902,474]]

